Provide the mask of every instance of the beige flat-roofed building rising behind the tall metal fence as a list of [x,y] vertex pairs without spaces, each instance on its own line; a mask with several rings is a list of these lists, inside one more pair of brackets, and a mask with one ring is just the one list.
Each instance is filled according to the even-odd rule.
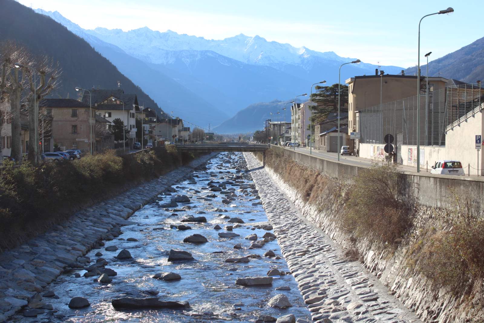
[[[421,77],[421,94],[425,93],[426,80]],[[429,91],[437,91],[446,87],[448,79],[444,77],[429,77]],[[410,75],[363,75],[348,78],[348,134],[356,132],[356,111],[378,106],[381,103],[392,102],[416,95],[417,77]]]

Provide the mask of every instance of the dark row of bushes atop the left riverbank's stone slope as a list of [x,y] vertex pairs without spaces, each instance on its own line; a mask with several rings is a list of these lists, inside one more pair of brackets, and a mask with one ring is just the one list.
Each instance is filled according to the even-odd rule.
[[16,246],[67,218],[86,204],[104,200],[130,186],[193,160],[176,147],[118,156],[114,151],[74,162],[0,169],[0,251]]

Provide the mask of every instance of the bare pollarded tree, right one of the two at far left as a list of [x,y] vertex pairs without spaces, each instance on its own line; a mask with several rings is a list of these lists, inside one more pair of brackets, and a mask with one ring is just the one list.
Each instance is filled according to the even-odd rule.
[[[32,69],[35,70],[36,75],[33,74]],[[54,63],[53,60],[44,56],[36,59],[31,68],[23,67],[23,71],[28,75],[30,85],[30,94],[28,96],[29,160],[37,164],[41,161],[39,149],[39,102],[59,86],[61,68],[59,67],[59,62]],[[39,80],[38,85],[37,79]]]

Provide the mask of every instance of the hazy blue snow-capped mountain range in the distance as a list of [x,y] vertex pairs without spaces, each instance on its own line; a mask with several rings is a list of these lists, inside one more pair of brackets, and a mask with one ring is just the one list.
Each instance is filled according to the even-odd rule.
[[[255,102],[309,92],[311,84],[323,78],[336,83],[341,63],[354,60],[243,34],[207,40],[147,27],[85,30],[58,12],[36,11],[89,42],[165,111],[203,127],[219,125]],[[342,69],[341,79],[373,74],[375,68],[363,62],[350,64]],[[402,70],[382,68],[389,73]]]

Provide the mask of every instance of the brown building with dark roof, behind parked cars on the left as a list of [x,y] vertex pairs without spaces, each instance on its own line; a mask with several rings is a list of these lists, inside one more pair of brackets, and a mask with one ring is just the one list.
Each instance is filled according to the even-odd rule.
[[54,147],[64,151],[68,148],[90,152],[95,143],[95,110],[88,104],[74,99],[43,99],[39,109],[53,118],[52,138]]

